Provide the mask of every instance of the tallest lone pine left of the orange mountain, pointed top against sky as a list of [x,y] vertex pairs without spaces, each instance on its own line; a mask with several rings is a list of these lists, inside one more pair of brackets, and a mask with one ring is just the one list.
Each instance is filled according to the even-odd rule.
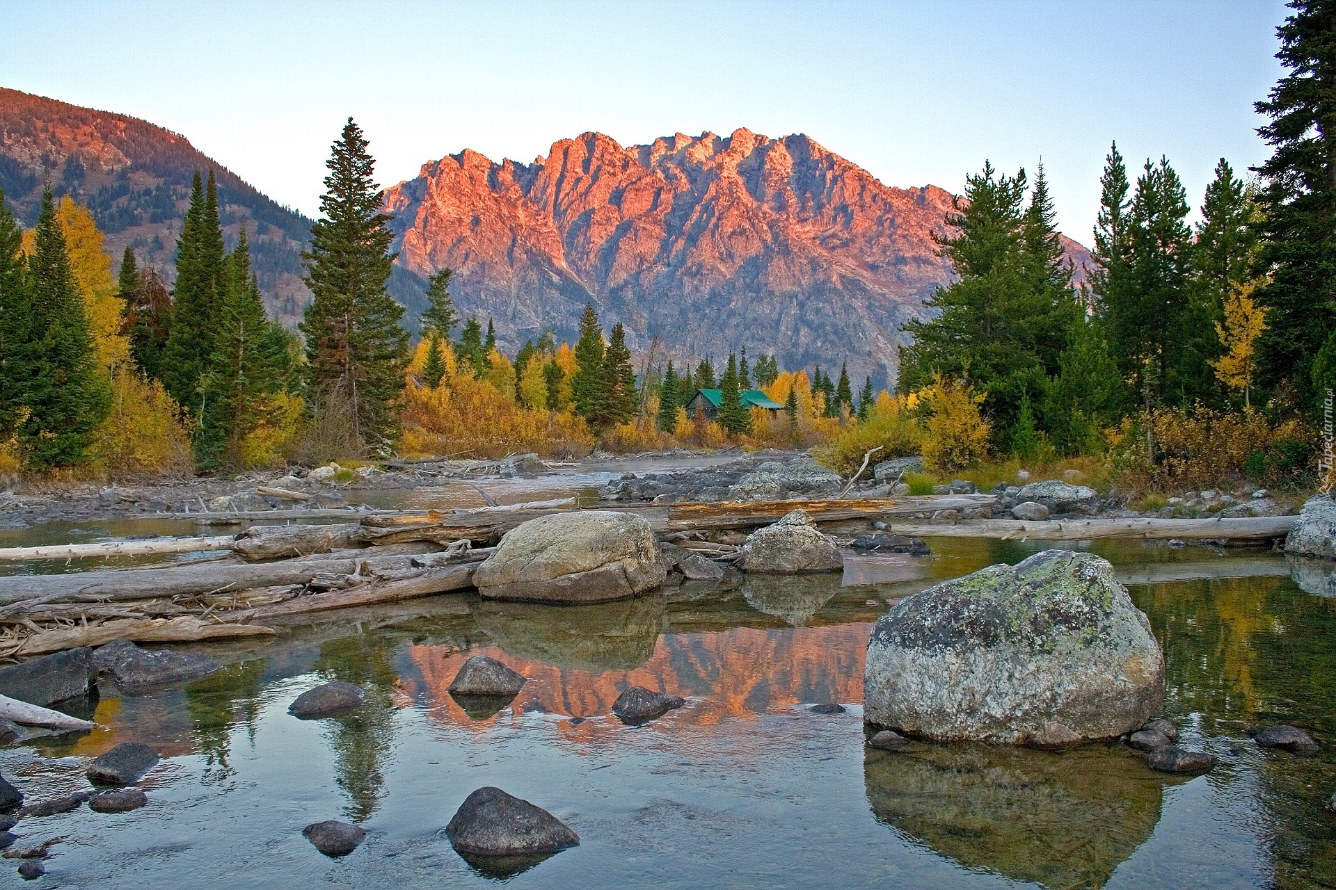
[[323,219],[311,227],[306,284],[311,303],[306,335],[310,387],[326,404],[349,407],[353,438],[363,450],[387,452],[399,435],[407,334],[403,307],[385,290],[394,255],[381,213],[382,192],[371,181],[374,161],[362,131],[347,119],[333,145],[321,197]]

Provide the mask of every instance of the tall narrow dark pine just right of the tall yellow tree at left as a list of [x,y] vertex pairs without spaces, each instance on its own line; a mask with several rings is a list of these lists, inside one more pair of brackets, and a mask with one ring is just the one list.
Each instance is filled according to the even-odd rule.
[[210,171],[204,188],[196,171],[186,223],[176,242],[176,296],[162,359],[163,386],[196,422],[203,380],[214,354],[214,314],[222,291],[224,252],[218,183]]

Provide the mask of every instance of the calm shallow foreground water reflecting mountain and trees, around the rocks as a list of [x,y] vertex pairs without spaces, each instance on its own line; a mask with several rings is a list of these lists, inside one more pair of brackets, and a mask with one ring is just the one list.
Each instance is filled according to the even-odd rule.
[[[1336,600],[1261,551],[1093,547],[1165,647],[1184,745],[1222,761],[1204,777],[1108,745],[868,750],[863,652],[886,603],[1041,548],[930,543],[931,558],[851,560],[844,584],[745,578],[585,607],[448,595],[198,646],[227,667],[155,695],[106,689],[104,729],[0,751],[35,798],[83,787],[87,759],[119,742],[164,755],[143,810],[20,823],[25,841],[68,838],[36,886],[493,886],[441,831],[484,785],[581,837],[514,887],[1336,885],[1336,817],[1321,807],[1336,758],[1260,751],[1242,734],[1289,721],[1336,738]],[[493,715],[445,691],[480,652],[530,678]],[[339,721],[287,715],[327,679],[362,685],[369,703]],[[628,685],[688,703],[624,726],[609,713]],[[814,702],[847,710],[815,715]],[[330,818],[361,822],[367,842],[322,857],[301,829]]]

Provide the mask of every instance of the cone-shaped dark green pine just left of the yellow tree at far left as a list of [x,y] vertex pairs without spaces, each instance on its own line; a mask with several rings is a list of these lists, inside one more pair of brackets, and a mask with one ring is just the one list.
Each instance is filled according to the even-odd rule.
[[27,291],[31,314],[20,391],[28,416],[19,435],[28,466],[81,463],[111,411],[111,390],[98,374],[88,314],[69,268],[49,188],[41,195]]

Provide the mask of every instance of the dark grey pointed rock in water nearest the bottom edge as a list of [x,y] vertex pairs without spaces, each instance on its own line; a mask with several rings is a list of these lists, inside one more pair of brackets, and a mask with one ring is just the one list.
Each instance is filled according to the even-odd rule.
[[466,797],[445,835],[457,853],[472,857],[546,855],[580,845],[565,822],[497,787]]

